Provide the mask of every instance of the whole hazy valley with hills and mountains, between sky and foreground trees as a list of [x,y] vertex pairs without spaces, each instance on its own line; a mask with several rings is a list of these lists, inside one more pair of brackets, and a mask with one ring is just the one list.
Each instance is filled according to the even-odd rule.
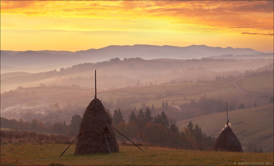
[[[112,115],[119,108],[128,122],[132,110],[137,114],[149,108],[153,117],[164,111],[183,124],[226,111],[226,102],[229,111],[268,105],[274,93],[273,68],[273,53],[205,45],[1,50],[1,117],[69,124],[94,99],[96,70],[97,98]],[[218,136],[217,130],[206,130]],[[239,139],[247,146],[248,140]]]

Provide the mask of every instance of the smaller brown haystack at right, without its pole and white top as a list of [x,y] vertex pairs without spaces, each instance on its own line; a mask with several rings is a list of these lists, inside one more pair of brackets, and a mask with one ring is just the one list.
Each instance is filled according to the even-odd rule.
[[230,127],[221,132],[213,144],[212,151],[243,152],[241,142]]

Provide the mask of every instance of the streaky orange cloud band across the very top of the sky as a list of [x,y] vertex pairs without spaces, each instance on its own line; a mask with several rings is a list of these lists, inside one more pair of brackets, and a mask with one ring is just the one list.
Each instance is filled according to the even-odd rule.
[[269,30],[269,27],[273,28],[273,7],[273,1],[1,1],[1,14],[60,18],[166,18],[171,23],[188,22],[211,28]]

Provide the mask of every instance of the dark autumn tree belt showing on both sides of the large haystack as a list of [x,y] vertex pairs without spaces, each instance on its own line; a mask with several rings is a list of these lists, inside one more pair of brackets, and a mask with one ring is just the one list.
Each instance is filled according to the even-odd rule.
[[[160,114],[152,117],[152,112],[149,108],[145,111],[142,108],[138,113],[132,109],[130,116],[128,117],[128,123],[125,122],[124,116],[118,108],[114,110],[112,115],[113,127],[126,135],[130,139],[138,142],[153,144],[163,147],[183,148],[183,149],[210,149],[215,141],[214,137],[206,136],[198,124],[195,128],[191,127],[191,122],[187,127],[182,129],[177,124],[177,120],[168,118],[166,113],[162,111]],[[78,134],[79,124],[81,122],[79,114],[75,114],[71,118],[69,125],[66,122],[55,122],[53,124],[46,122],[40,122],[37,119],[33,119],[30,123],[28,121],[20,120],[8,120],[1,117],[1,127],[11,128],[15,130],[28,130],[37,132],[46,132],[54,134]],[[115,131],[116,132],[116,131]],[[117,139],[125,141],[125,138],[116,133]]]

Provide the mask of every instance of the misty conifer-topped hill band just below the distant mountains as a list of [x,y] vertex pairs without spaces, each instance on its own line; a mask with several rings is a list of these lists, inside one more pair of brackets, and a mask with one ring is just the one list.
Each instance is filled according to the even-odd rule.
[[[52,71],[33,73],[29,77],[14,77],[12,73],[1,74],[1,92],[14,90],[18,85],[22,87],[38,86],[39,83],[46,85],[70,86],[78,84],[81,87],[94,88],[93,73],[97,69],[98,89],[122,88],[128,86],[155,85],[175,81],[216,80],[216,76],[231,75],[239,76],[246,72],[246,69],[260,70],[273,69],[273,59],[248,59],[248,60],[227,60],[227,61],[180,61],[170,59],[145,60],[139,58],[125,60],[111,60],[100,63],[82,63],[73,66],[62,67]],[[47,66],[44,66],[46,68]],[[57,66],[55,66],[57,67]],[[42,68],[42,67],[41,67]],[[1,72],[2,69],[1,66]],[[11,70],[11,68],[7,68]],[[15,69],[12,68],[14,71]],[[60,71],[59,71],[60,70]],[[62,70],[62,71],[61,71]],[[22,72],[22,71],[21,71]],[[10,77],[10,78],[9,78]]]

